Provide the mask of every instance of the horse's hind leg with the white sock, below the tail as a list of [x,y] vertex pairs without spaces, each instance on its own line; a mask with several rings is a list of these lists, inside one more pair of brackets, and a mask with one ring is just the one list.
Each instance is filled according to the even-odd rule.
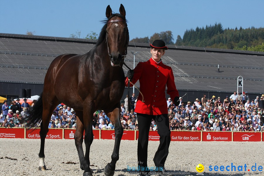
[[55,96],[45,95],[43,92],[43,113],[42,113],[42,122],[40,124],[40,151],[38,154],[39,157],[39,167],[38,170],[46,170],[46,165],[44,162],[44,146],[45,146],[45,138],[49,131],[49,123],[50,117],[55,109],[55,107],[59,104],[58,99]]

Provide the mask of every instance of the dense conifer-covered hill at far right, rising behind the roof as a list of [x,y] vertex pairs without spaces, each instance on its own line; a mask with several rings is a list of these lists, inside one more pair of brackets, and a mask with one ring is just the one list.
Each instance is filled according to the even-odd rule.
[[186,30],[183,38],[177,37],[176,45],[197,46],[208,48],[239,49],[262,45],[264,28],[223,29],[221,23],[205,28]]

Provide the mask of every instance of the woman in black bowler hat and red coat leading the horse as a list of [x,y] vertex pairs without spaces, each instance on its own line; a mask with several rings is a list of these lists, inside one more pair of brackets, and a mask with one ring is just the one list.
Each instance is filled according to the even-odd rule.
[[148,157],[148,135],[151,120],[154,119],[160,136],[160,145],[153,158],[156,167],[159,167],[160,175],[165,175],[164,164],[169,153],[170,146],[170,128],[168,119],[168,109],[165,97],[165,88],[167,94],[176,103],[179,100],[179,93],[176,89],[174,76],[171,67],[162,63],[161,57],[168,49],[163,40],[155,40],[150,44],[150,53],[152,57],[146,62],[139,62],[134,70],[127,72],[125,85],[128,86],[128,79],[135,84],[138,80],[140,91],[135,112],[138,119],[138,166],[140,175],[149,175],[146,170]]

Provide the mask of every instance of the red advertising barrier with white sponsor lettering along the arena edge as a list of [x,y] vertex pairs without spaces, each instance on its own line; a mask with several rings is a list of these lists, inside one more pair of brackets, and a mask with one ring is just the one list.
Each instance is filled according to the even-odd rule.
[[[49,129],[48,139],[74,139],[75,129]],[[40,128],[0,128],[0,138],[40,139]],[[114,130],[93,130],[94,139],[115,139]],[[84,136],[84,133],[83,133]],[[239,131],[171,131],[171,141],[262,141],[263,132]],[[138,131],[124,130],[122,140],[137,140]],[[150,131],[148,139],[159,141],[158,131]]]

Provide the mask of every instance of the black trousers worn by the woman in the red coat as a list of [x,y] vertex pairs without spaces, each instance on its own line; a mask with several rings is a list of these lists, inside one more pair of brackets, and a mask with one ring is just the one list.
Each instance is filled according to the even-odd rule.
[[[153,158],[156,167],[163,167],[169,154],[170,128],[168,114],[148,115],[137,113],[138,119],[138,166],[147,167],[148,135],[152,119],[155,120],[160,136],[160,145]],[[149,171],[140,169],[140,174],[148,174]]]

